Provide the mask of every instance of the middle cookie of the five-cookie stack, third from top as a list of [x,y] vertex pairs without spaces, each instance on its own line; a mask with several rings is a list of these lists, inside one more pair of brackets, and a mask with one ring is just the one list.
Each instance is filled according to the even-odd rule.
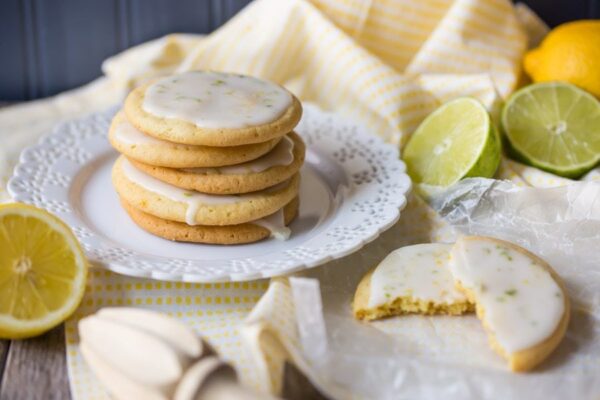
[[130,161],[148,175],[183,189],[213,194],[248,193],[271,187],[296,174],[304,163],[304,143],[297,134],[290,133],[256,160],[219,168],[174,169]]

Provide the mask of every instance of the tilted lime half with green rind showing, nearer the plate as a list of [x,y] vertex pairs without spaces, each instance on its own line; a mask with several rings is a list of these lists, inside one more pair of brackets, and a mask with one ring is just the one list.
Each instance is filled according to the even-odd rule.
[[464,97],[425,118],[406,144],[403,159],[416,183],[450,186],[466,177],[494,176],[500,153],[500,138],[487,110]]

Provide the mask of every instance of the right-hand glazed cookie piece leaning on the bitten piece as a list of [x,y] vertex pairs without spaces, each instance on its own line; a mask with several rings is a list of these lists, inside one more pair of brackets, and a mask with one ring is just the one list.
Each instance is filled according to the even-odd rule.
[[535,367],[558,346],[569,300],[544,260],[512,243],[465,236],[452,248],[450,269],[475,303],[492,348],[513,371]]

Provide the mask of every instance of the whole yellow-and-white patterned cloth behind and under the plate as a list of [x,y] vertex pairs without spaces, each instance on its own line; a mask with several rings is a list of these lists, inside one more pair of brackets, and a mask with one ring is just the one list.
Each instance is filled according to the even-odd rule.
[[[24,146],[56,122],[104,109],[157,76],[213,69],[267,78],[402,144],[428,113],[458,96],[473,96],[496,113],[523,82],[523,52],[545,30],[526,7],[509,0],[256,0],[209,36],[175,34],[142,44],[107,60],[105,76],[85,87],[0,110],[0,199],[7,199],[5,182]],[[533,185],[554,179],[538,172],[505,161],[500,177]],[[394,229],[419,241],[452,234],[417,197],[399,224]],[[235,364],[244,382],[277,392],[282,360],[293,359],[289,349],[297,345],[290,296],[285,280],[186,285],[94,270],[83,305],[67,323],[73,397],[107,398],[78,352],[78,319],[122,304],[189,322]]]

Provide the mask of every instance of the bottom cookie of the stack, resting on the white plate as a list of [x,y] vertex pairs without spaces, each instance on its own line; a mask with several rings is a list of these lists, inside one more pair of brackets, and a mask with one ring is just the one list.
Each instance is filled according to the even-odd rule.
[[278,240],[288,239],[290,229],[287,226],[298,214],[299,201],[296,197],[283,209],[257,221],[226,226],[190,226],[183,222],[168,221],[147,214],[124,200],[121,204],[140,228],[165,239],[208,244],[242,244],[257,242],[268,237]]

